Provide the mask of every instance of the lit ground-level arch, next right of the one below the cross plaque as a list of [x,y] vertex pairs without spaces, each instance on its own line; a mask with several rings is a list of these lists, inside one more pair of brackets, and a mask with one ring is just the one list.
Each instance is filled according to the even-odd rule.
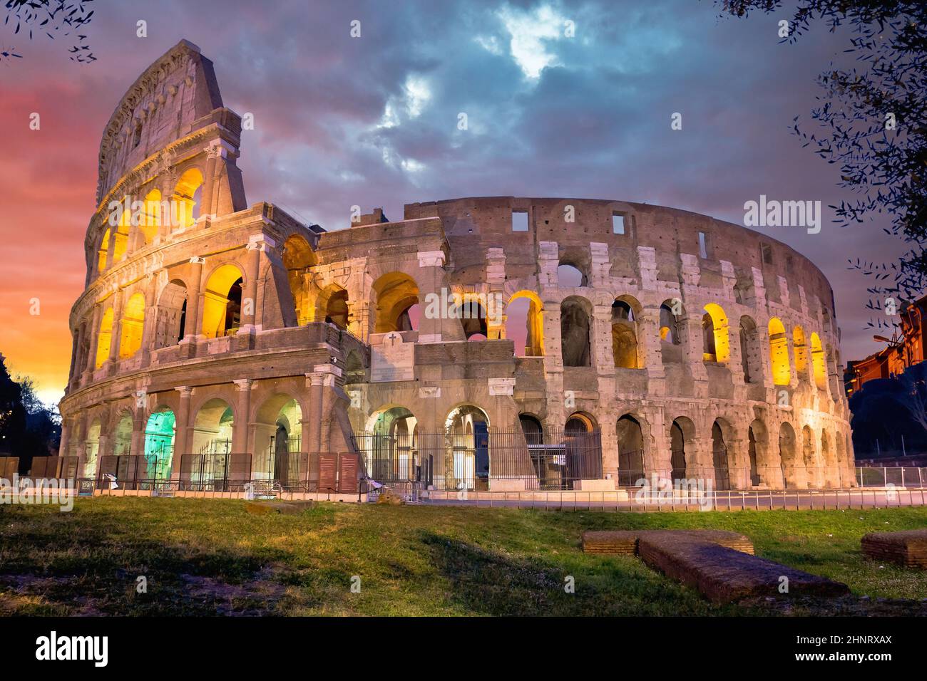
[[489,489],[489,418],[473,405],[462,405],[444,422],[452,475],[446,489]]

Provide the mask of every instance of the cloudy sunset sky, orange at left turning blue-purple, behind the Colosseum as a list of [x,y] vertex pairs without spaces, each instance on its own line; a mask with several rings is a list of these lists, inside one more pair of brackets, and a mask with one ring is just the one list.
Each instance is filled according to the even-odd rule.
[[[214,62],[225,106],[254,114],[239,161],[248,202],[329,230],[348,226],[354,204],[401,219],[404,203],[468,195],[624,199],[733,222],[761,194],[825,207],[849,197],[788,130],[796,115],[812,127],[814,76],[848,35],[818,26],[779,44],[784,13],[720,19],[710,0],[93,4],[89,65],[71,62],[63,41],[0,26],[0,47],[23,57],[0,64],[0,352],[46,401],[67,382],[100,134],[181,38]],[[674,112],[681,131],[670,130]],[[819,234],[766,231],[830,278],[843,356],[856,359],[877,346],[866,282],[846,259],[897,246],[879,224],[831,220],[825,210]]]

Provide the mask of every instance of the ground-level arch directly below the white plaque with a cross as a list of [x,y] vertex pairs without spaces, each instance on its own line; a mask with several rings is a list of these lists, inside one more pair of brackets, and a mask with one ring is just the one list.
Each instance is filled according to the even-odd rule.
[[378,483],[409,482],[419,477],[418,420],[405,407],[379,410],[367,422],[359,442],[367,471]]

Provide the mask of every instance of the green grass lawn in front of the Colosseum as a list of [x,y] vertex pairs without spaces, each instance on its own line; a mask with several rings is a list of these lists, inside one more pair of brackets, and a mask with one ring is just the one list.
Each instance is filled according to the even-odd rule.
[[[927,572],[866,561],[859,549],[867,532],[924,526],[925,508],[644,514],[323,503],[300,515],[254,515],[233,500],[78,499],[70,513],[0,510],[0,613],[801,614],[813,608],[711,605],[636,558],[583,554],[579,536],[741,532],[759,556],[846,583],[856,608],[927,598]],[[136,593],[139,575],[147,593]],[[567,575],[574,594],[565,593]]]

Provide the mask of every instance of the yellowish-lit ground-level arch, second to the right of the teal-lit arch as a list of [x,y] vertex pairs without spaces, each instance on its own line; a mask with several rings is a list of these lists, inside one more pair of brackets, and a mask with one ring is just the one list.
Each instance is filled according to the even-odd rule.
[[255,414],[254,461],[251,469],[259,480],[296,485],[309,476],[308,457],[302,449],[302,408],[285,393],[269,397]]

